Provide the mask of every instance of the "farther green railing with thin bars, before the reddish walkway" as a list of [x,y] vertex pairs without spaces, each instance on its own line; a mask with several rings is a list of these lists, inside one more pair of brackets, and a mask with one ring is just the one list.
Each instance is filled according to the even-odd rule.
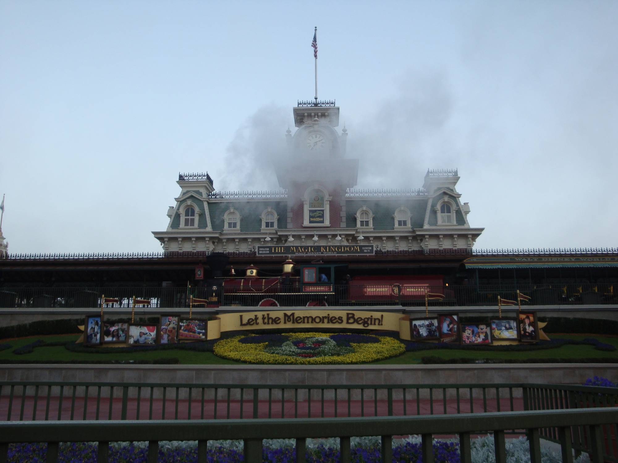
[[618,389],[542,384],[0,382],[0,421],[370,417],[615,406]]

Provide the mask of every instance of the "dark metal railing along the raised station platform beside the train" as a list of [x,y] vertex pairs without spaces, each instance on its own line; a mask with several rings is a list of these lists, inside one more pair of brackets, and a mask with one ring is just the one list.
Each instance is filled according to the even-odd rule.
[[[618,304],[618,282],[616,283],[565,283],[551,285],[449,285],[417,286],[406,288],[391,283],[381,285],[332,285],[332,291],[324,293],[302,293],[298,288],[269,285],[259,288],[238,288],[226,286],[214,295],[221,306],[258,306],[264,299],[274,299],[282,307],[310,305],[328,306],[425,306],[425,293],[440,293],[442,300],[430,300],[432,307],[440,306],[497,306],[497,297],[517,301],[517,290],[531,297],[528,305],[595,305]],[[188,307],[188,296],[208,299],[213,290],[206,287],[186,286],[165,288],[2,288],[0,307],[100,307],[101,294],[121,299],[119,304],[109,307],[130,307],[133,296],[149,299],[152,308]],[[522,304],[522,306],[525,304]]]

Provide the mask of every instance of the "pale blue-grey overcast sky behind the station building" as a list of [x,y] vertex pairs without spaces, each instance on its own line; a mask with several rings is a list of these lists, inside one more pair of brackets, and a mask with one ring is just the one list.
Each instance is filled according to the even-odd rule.
[[359,188],[457,167],[477,248],[616,246],[617,17],[615,0],[0,0],[9,251],[158,251],[179,171],[276,186],[314,26]]

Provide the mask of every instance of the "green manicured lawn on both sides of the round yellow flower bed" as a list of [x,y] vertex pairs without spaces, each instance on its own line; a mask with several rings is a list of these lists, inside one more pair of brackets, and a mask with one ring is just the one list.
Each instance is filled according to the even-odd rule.
[[[599,341],[607,344],[612,344],[618,347],[618,337],[598,336],[598,335],[550,335],[552,339],[567,338],[574,340],[583,340],[584,338],[596,338]],[[35,348],[30,354],[15,355],[12,351],[20,346],[33,343],[38,339],[53,343],[57,341],[77,340],[78,335],[58,335],[58,336],[33,336],[29,338],[20,338],[17,340],[0,340],[0,344],[11,344],[11,349],[0,351],[0,361],[136,361],[155,359],[179,359],[183,365],[241,365],[240,362],[234,362],[226,359],[221,359],[215,356],[212,352],[193,352],[185,350],[164,350],[152,352],[119,352],[105,354],[89,354],[86,352],[70,352],[62,346],[55,347],[40,347]],[[544,349],[538,351],[525,352],[496,352],[496,351],[467,351],[466,349],[432,349],[418,352],[405,352],[399,357],[386,359],[383,361],[373,362],[373,364],[382,365],[406,365],[420,364],[421,357],[439,357],[441,359],[512,359],[525,362],[527,359],[607,359],[610,362],[618,361],[618,351],[606,352],[598,351],[593,346],[562,346],[557,349]]]

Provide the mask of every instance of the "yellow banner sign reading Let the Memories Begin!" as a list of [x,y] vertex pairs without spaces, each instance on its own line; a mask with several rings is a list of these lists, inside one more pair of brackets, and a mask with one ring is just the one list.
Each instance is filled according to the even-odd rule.
[[260,311],[221,314],[208,322],[208,339],[218,339],[222,332],[239,330],[273,330],[284,328],[349,328],[388,330],[410,340],[410,317],[394,312],[366,311]]

